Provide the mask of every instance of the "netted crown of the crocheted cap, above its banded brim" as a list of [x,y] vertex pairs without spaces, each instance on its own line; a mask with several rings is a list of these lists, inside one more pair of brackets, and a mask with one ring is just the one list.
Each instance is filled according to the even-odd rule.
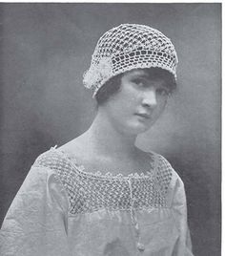
[[119,53],[129,53],[142,47],[148,50],[175,53],[171,40],[162,32],[138,24],[121,24],[105,32],[98,40],[92,60]]

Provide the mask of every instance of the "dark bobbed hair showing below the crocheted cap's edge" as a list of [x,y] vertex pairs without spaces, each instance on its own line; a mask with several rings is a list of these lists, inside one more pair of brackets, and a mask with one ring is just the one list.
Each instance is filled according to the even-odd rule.
[[[175,91],[176,81],[174,75],[169,71],[161,68],[149,68],[143,70],[147,71],[153,80],[163,79],[165,81],[165,86],[169,89],[170,95]],[[103,105],[111,96],[119,91],[121,78],[124,74],[126,73],[113,76],[98,90],[95,99],[99,106]]]

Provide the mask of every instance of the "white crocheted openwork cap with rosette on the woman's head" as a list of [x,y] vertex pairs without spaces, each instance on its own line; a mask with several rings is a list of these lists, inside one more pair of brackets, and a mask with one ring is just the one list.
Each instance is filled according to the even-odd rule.
[[174,45],[162,32],[145,25],[121,24],[99,38],[83,82],[95,96],[111,77],[133,69],[158,67],[176,78],[177,63]]

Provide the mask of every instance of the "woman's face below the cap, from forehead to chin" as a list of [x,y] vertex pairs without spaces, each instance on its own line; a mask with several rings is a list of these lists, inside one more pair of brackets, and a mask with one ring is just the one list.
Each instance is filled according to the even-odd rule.
[[148,70],[132,70],[121,78],[120,90],[102,106],[113,126],[133,135],[147,131],[163,112],[169,89]]

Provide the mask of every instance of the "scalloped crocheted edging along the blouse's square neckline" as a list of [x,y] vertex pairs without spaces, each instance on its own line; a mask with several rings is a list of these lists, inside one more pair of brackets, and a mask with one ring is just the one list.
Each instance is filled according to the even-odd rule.
[[85,166],[83,164],[78,163],[78,161],[75,159],[75,157],[72,154],[57,148],[57,145],[55,145],[54,147],[51,147],[50,150],[60,154],[60,156],[69,160],[70,163],[72,164],[72,167],[76,169],[81,175],[86,177],[91,177],[94,179],[103,179],[103,180],[113,179],[113,180],[128,180],[128,181],[131,179],[137,179],[137,180],[153,179],[153,176],[157,168],[157,154],[153,153],[152,151],[149,153],[150,153],[150,159],[152,158],[153,162],[151,162],[150,160],[150,169],[146,173],[133,172],[129,175],[123,175],[122,173],[113,174],[113,172],[111,171],[108,171],[107,173],[102,173],[101,171],[96,171],[96,172],[86,171]]

